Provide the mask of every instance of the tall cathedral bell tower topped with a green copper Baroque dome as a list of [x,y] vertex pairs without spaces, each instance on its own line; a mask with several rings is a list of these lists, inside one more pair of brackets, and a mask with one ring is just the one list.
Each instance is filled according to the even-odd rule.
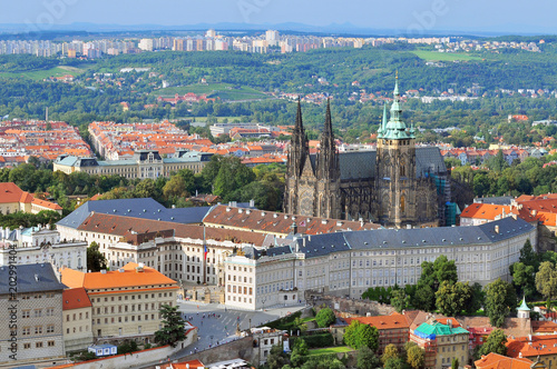
[[401,228],[418,220],[416,211],[416,134],[401,120],[399,76],[393,91],[391,116],[378,130],[377,149],[377,202],[379,222],[385,227]]

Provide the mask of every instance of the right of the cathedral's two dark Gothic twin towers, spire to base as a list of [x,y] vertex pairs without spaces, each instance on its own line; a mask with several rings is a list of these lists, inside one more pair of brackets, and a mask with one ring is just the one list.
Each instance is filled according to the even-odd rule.
[[322,218],[341,218],[339,197],[341,169],[339,153],[334,143],[333,124],[331,121],[331,104],[326,100],[326,113],[320,150],[316,160],[317,188],[316,213]]

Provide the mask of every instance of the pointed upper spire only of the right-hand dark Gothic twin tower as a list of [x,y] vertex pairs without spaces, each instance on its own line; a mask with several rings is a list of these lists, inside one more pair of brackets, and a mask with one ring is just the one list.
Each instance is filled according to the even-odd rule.
[[321,133],[317,156],[317,173],[322,179],[336,179],[340,173],[339,154],[334,143],[333,123],[331,119],[331,102],[326,100],[325,123]]

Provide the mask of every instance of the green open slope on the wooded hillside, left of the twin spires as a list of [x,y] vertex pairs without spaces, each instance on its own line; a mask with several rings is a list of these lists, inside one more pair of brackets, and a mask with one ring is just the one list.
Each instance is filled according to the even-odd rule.
[[196,94],[206,93],[209,98],[221,98],[222,100],[253,100],[253,99],[267,99],[265,93],[252,89],[250,87],[234,88],[229,83],[209,83],[209,84],[189,84],[184,87],[168,87],[153,91],[153,96],[174,96],[194,92]]

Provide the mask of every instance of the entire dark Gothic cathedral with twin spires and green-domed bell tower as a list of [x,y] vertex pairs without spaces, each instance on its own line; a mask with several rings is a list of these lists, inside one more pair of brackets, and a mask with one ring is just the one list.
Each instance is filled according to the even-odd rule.
[[402,121],[398,78],[375,151],[339,153],[331,107],[315,154],[299,102],[289,148],[284,211],[307,217],[367,219],[385,227],[446,226],[450,209],[449,172],[436,147],[417,147],[413,126]]

